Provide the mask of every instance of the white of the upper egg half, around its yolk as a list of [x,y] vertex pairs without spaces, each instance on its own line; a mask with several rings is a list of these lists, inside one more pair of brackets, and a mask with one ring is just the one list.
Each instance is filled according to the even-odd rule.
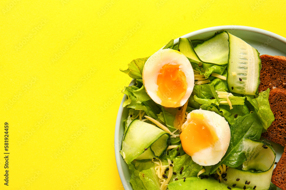
[[186,103],[194,88],[194,71],[192,65],[188,58],[181,52],[172,49],[163,49],[150,56],[143,68],[143,84],[151,99],[161,105],[162,100],[157,95],[157,79],[161,68],[167,64],[179,65],[179,68],[186,76],[187,89],[185,95],[179,101],[179,105],[176,106],[179,107]]

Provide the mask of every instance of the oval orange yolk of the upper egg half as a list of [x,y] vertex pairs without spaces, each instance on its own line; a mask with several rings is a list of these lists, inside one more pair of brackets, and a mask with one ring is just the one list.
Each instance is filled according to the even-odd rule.
[[186,94],[186,75],[179,65],[166,64],[160,69],[157,78],[157,95],[165,107],[179,107],[180,100]]

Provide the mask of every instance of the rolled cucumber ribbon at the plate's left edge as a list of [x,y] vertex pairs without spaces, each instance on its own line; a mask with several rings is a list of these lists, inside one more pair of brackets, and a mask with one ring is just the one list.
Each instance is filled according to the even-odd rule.
[[166,152],[169,141],[169,133],[154,125],[134,119],[122,139],[120,154],[127,164],[134,159],[154,158]]

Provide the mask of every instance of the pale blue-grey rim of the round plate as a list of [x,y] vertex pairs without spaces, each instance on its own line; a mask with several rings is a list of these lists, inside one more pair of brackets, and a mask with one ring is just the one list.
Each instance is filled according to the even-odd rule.
[[[251,32],[255,32],[255,33],[259,33],[259,34],[264,34],[267,36],[271,36],[283,43],[286,44],[286,38],[283,36],[280,36],[279,34],[276,34],[274,32],[270,32],[268,30],[264,30],[261,28],[255,28],[255,27],[251,27],[251,26],[242,26],[242,25],[222,25],[222,26],[212,26],[212,27],[208,27],[208,28],[202,28],[200,30],[195,30],[193,32],[190,32],[188,34],[184,34],[183,36],[180,36],[178,38],[176,38],[174,40],[174,44],[177,44],[179,42],[179,38],[190,38],[192,36],[195,35],[199,35],[205,32],[216,32],[216,31],[220,31],[220,30],[242,30],[242,31],[251,31]],[[164,48],[164,46],[162,47]],[[160,49],[162,49],[160,48]],[[129,86],[132,85],[132,83],[135,82],[135,79],[132,79]],[[122,164],[121,164],[121,154],[120,154],[120,149],[121,149],[121,143],[120,143],[120,139],[119,139],[119,130],[120,130],[120,122],[121,122],[121,118],[122,118],[122,113],[123,113],[123,109],[124,107],[122,107],[124,101],[127,99],[127,95],[124,94],[122,101],[120,103],[120,107],[118,109],[118,113],[117,113],[117,117],[116,117],[116,124],[115,124],[115,132],[114,132],[114,149],[115,149],[115,160],[116,160],[116,166],[117,166],[117,170],[119,173],[119,177],[121,180],[121,183],[124,187],[124,189],[129,189],[128,186],[130,186],[129,180],[125,178],[124,176],[124,171],[122,168]],[[119,146],[120,145],[120,146]],[[128,183],[127,183],[128,181]]]

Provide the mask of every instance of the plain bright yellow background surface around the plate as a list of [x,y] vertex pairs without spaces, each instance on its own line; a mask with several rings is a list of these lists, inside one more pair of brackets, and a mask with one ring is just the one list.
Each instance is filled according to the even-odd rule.
[[131,79],[119,68],[211,26],[286,37],[281,2],[0,1],[0,189],[123,189],[114,126]]

